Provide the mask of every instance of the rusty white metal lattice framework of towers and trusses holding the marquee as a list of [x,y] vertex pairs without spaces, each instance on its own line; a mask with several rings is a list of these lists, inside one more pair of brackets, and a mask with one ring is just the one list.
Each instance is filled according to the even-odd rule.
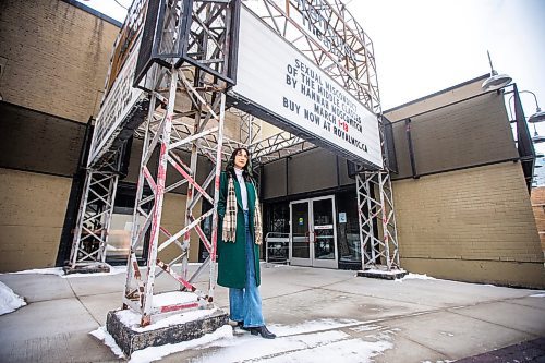
[[[331,4],[325,0],[256,0],[247,1],[246,5],[368,110],[380,114],[373,43],[340,1]],[[135,52],[137,59],[132,53],[120,58],[132,66],[129,75],[134,77],[134,85],[140,89],[132,88],[128,98],[138,100],[135,105],[140,111],[128,114],[124,122],[114,125],[97,121],[95,134],[101,138],[94,142],[95,148],[89,156],[71,266],[105,262],[119,179],[120,144],[128,134],[143,137],[123,297],[124,307],[142,314],[142,325],[149,324],[154,314],[198,308],[214,301],[217,215],[213,208],[199,216],[195,207],[204,199],[217,204],[222,158],[244,145],[250,148],[255,167],[256,161],[265,162],[315,147],[299,135],[284,131],[262,138],[262,121],[242,111],[232,111],[241,122],[240,142],[223,135],[226,92],[234,83],[231,72],[235,49],[232,45],[237,44],[238,7],[239,0],[137,0],[130,14],[136,14],[138,21],[134,21],[135,24],[145,23],[146,26],[143,32],[129,35],[123,34],[124,26],[118,40],[125,39],[125,45],[119,46],[117,41],[118,48],[128,52],[140,48],[140,55]],[[327,16],[311,16],[316,13]],[[142,17],[142,14],[147,15]],[[308,28],[298,23],[298,19],[307,19],[311,23],[314,20],[315,25],[335,33],[341,41],[331,43],[327,48]],[[131,35],[134,39],[130,38]],[[110,69],[110,75],[113,71]],[[110,77],[107,86],[112,82]],[[131,121],[138,117],[141,121]],[[107,118],[101,120],[108,121]],[[380,123],[384,150],[382,128]],[[184,161],[182,150],[190,154],[189,161]],[[158,164],[154,164],[157,153]],[[214,165],[201,182],[196,173],[198,156],[208,158]],[[177,177],[171,177],[173,174]],[[184,225],[178,230],[167,230],[161,226],[165,194],[180,187],[186,189]],[[384,264],[390,269],[399,266],[391,181],[386,164],[382,170],[362,168],[356,177],[356,187],[363,267]],[[150,194],[145,195],[145,191],[150,191]],[[213,232],[211,238],[207,238],[201,222],[210,216]],[[382,223],[375,226],[374,221],[378,220]],[[209,256],[190,277],[187,257],[192,231],[198,235]],[[147,265],[143,271],[137,265],[136,251],[146,240]],[[161,257],[161,252],[167,249],[178,249],[173,259]],[[181,263],[181,270],[174,271],[173,264],[178,263]],[[201,291],[194,281],[206,269],[209,270],[208,289]],[[175,279],[182,290],[195,292],[196,300],[154,306],[154,281],[165,273]]]

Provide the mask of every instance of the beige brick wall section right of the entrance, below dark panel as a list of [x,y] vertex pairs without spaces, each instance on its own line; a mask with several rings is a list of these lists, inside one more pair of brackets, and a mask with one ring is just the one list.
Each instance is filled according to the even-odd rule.
[[[402,266],[436,277],[544,286],[543,253],[520,164],[505,162],[393,183]],[[533,273],[513,281],[508,266]],[[423,266],[428,266],[424,268]],[[450,266],[450,267],[447,267]]]

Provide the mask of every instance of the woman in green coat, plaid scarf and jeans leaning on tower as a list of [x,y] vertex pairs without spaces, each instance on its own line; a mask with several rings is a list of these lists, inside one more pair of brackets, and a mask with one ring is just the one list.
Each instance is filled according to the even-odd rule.
[[258,286],[262,219],[250,153],[237,148],[221,173],[218,202],[218,285],[229,288],[231,320],[252,335],[274,339],[265,326]]

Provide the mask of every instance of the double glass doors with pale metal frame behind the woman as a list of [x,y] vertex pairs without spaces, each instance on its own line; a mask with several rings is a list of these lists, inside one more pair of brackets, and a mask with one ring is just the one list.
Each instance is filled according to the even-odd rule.
[[290,203],[291,265],[338,268],[335,196]]

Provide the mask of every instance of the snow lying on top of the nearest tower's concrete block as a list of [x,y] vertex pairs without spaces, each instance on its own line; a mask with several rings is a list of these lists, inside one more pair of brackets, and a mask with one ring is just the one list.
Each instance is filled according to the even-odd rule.
[[214,314],[217,308],[204,308],[204,310],[193,310],[181,314],[170,315],[158,322],[153,322],[153,324],[146,327],[140,327],[140,322],[142,318],[141,314],[137,314],[131,310],[121,310],[116,312],[116,315],[126,327],[131,328],[133,331],[149,331],[159,328],[165,328],[171,325],[184,324],[187,322],[194,322],[206,316]]

